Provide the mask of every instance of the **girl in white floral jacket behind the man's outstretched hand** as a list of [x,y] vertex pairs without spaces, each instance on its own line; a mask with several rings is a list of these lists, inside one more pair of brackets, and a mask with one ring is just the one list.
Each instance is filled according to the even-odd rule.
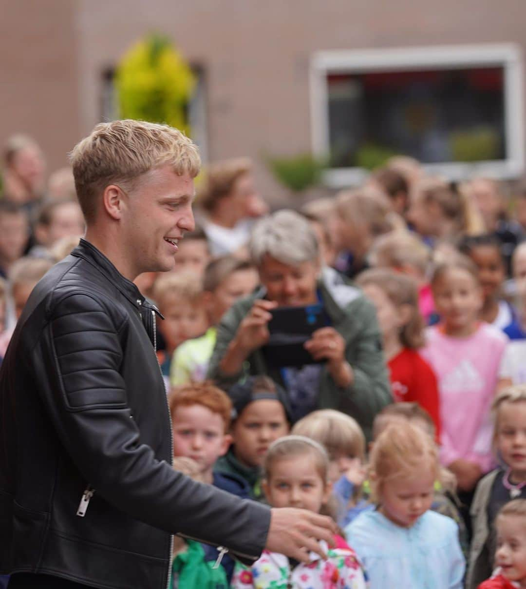
[[[272,444],[265,459],[264,489],[272,507],[296,507],[321,513],[331,495],[329,460],[324,448],[304,436],[287,436]],[[251,568],[236,565],[232,589],[244,587],[339,587],[365,589],[367,576],[342,538],[328,548],[327,560],[311,552],[309,564],[264,551]]]

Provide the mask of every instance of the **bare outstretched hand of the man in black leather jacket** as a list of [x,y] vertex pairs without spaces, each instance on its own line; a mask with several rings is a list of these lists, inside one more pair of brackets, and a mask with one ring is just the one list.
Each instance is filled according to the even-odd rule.
[[336,524],[327,515],[288,507],[271,509],[265,548],[307,563],[311,551],[322,558],[327,556],[318,540],[325,540],[329,546],[334,546],[336,532]]

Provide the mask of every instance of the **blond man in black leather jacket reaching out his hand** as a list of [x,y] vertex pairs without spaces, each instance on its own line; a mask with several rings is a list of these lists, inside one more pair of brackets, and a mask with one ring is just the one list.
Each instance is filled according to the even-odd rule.
[[86,237],[36,285],[0,373],[0,573],[11,587],[161,589],[174,533],[247,562],[265,545],[308,561],[327,518],[171,468],[158,310],[132,281],[171,270],[194,229],[197,148],[165,125],[113,121],[71,163]]

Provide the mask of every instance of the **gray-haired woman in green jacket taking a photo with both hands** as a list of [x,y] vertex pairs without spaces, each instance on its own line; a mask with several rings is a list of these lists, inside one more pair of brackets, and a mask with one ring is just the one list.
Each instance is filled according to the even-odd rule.
[[[322,267],[315,233],[294,211],[258,221],[249,252],[262,287],[223,317],[209,377],[228,387],[266,374],[287,390],[293,421],[314,409],[339,409],[357,419],[369,439],[374,416],[391,402],[374,307],[335,270]],[[264,349],[272,311],[311,305],[327,317],[304,344],[312,362],[269,364]]]

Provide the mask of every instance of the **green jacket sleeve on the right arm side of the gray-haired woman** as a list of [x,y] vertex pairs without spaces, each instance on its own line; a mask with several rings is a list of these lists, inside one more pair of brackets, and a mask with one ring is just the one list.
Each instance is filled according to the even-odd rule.
[[352,366],[354,381],[346,388],[338,388],[326,373],[325,386],[336,389],[335,396],[339,398],[335,399],[336,408],[355,416],[369,438],[374,416],[392,403],[391,386],[374,307],[361,297],[352,315],[352,333],[348,336],[344,333],[344,337],[345,355]]

